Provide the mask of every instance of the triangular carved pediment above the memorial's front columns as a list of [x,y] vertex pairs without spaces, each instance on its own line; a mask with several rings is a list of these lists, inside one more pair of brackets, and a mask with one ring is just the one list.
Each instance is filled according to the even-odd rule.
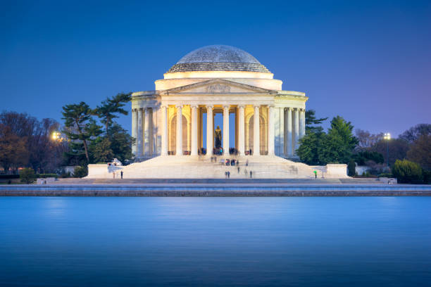
[[227,79],[187,84],[163,91],[163,94],[277,94],[277,91],[241,84]]

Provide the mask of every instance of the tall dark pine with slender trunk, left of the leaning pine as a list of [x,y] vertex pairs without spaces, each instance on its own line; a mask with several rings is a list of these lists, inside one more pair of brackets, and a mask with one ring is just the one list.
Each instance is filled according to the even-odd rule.
[[[87,141],[93,136],[85,129],[91,119],[92,109],[89,108],[87,103],[80,102],[79,104],[63,106],[63,117],[65,120],[65,134],[73,141],[80,141],[84,147],[85,158],[89,162],[88,143]],[[77,147],[77,146],[75,146]]]

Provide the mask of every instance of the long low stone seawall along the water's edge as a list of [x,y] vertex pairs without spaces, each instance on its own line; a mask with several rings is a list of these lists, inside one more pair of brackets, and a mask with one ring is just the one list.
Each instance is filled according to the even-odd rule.
[[431,196],[408,184],[44,184],[0,186],[0,196]]

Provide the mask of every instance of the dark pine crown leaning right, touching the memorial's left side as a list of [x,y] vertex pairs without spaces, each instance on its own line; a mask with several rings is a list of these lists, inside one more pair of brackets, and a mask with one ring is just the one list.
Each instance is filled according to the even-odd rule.
[[101,106],[97,106],[94,110],[96,115],[99,116],[101,122],[105,125],[105,132],[108,133],[108,128],[112,124],[113,119],[118,117],[115,114],[123,114],[127,115],[128,112],[123,108],[126,103],[130,102],[130,95],[132,93],[120,93],[112,98],[107,98],[105,101],[101,103]]

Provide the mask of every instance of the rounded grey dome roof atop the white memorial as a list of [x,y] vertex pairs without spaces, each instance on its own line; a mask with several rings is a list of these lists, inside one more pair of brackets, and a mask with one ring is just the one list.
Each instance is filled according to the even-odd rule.
[[211,45],[196,49],[182,57],[168,70],[168,72],[192,71],[270,72],[246,51],[225,45]]

